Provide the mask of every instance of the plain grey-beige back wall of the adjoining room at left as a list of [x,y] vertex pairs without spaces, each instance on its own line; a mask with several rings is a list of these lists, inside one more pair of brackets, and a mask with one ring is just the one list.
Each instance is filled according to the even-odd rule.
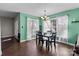
[[14,36],[14,20],[1,17],[1,38]]

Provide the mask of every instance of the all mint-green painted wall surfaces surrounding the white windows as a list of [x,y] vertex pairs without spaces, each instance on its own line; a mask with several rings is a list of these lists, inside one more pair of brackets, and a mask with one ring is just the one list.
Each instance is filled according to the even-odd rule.
[[[49,15],[50,18],[55,18],[59,16],[68,15],[68,42],[74,44],[76,41],[77,34],[79,33],[79,23],[72,23],[72,20],[75,18],[76,20],[79,20],[79,8],[63,11],[60,13]],[[39,19],[39,27],[42,26],[43,30],[43,21],[40,17],[20,13],[20,33],[21,37],[20,40],[26,40],[27,39],[27,18],[34,18]],[[23,27],[23,28],[22,28]]]

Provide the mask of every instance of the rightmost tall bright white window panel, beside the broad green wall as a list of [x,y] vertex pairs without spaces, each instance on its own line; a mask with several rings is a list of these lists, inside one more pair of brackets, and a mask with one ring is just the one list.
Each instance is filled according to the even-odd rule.
[[68,16],[56,18],[56,31],[59,41],[68,42]]

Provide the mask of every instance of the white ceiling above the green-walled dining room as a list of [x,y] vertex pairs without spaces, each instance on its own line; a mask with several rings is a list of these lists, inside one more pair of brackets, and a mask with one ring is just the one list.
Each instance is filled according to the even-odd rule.
[[22,12],[34,16],[42,16],[44,9],[47,10],[47,15],[51,15],[74,8],[79,8],[79,3],[0,3],[0,10]]

